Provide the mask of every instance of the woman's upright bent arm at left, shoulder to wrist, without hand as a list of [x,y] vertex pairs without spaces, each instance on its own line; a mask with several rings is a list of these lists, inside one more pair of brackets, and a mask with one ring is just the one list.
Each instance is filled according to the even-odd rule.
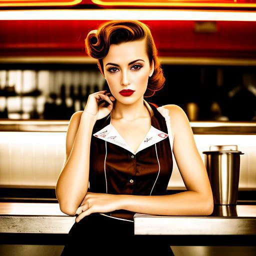
[[55,192],[60,210],[75,215],[88,189],[90,141],[95,115],[75,112],[66,133],[66,154]]

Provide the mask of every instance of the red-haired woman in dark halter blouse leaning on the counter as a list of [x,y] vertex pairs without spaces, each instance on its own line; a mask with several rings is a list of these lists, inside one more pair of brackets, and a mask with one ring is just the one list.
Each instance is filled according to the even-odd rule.
[[[189,120],[177,105],[156,108],[143,98],[165,81],[144,23],[105,22],[88,33],[85,48],[109,90],[90,94],[68,125],[56,196],[61,211],[76,218],[62,255],[173,255],[161,236],[134,235],[133,215],[211,214],[210,183]],[[187,191],[166,195],[173,155]]]

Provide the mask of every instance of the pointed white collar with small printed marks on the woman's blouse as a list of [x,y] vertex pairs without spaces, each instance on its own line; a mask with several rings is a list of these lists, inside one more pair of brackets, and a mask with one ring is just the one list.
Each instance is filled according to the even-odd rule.
[[[147,104],[146,104],[146,106],[147,106]],[[109,116],[109,118],[111,118],[111,117]],[[151,146],[151,145],[163,140],[164,138],[166,138],[168,136],[168,134],[165,133],[164,131],[156,129],[155,127],[153,127],[151,125],[146,136],[144,137],[144,139],[138,146],[136,152],[133,152],[133,150],[130,148],[130,146],[125,142],[125,140],[119,134],[119,132],[111,124],[111,119],[110,119],[110,123],[108,125],[106,125],[102,129],[98,130],[97,132],[93,133],[92,135],[97,138],[108,141],[110,143],[116,144],[122,148],[125,148],[128,151],[130,151],[132,154],[136,154],[137,152],[141,151],[142,149],[144,149],[148,146]]]

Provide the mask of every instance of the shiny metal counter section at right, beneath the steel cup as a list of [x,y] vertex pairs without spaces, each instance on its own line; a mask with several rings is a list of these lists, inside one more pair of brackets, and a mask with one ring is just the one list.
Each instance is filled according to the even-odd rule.
[[136,213],[135,234],[255,235],[256,205],[214,205],[209,216],[159,216]]

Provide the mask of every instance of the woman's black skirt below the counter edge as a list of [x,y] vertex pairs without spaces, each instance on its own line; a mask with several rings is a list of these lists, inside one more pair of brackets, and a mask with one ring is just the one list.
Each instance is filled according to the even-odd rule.
[[70,228],[61,256],[174,255],[161,235],[134,235],[134,222],[91,213]]

